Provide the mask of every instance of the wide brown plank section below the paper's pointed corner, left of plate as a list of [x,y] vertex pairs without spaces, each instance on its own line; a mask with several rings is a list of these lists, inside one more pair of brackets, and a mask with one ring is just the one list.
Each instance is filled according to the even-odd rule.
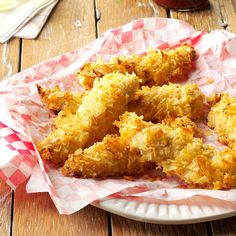
[[106,236],[107,215],[92,206],[73,215],[59,215],[47,193],[26,194],[23,184],[15,194],[13,235]]

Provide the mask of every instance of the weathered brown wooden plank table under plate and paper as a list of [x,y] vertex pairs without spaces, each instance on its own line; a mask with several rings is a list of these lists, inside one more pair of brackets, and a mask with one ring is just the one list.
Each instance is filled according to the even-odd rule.
[[[236,32],[235,0],[211,0],[211,9],[189,13],[166,11],[151,0],[61,0],[37,40],[13,39],[0,45],[0,78],[81,48],[111,27],[155,16],[183,19],[197,30]],[[135,222],[92,206],[62,216],[48,194],[26,194],[25,184],[13,192],[0,181],[0,235],[236,235],[236,217],[165,226]]]

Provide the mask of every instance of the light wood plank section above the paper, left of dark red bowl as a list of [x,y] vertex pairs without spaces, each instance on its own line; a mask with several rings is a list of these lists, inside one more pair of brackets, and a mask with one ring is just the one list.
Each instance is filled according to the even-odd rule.
[[166,10],[152,0],[96,0],[101,17],[98,33],[121,26],[141,17],[166,17]]

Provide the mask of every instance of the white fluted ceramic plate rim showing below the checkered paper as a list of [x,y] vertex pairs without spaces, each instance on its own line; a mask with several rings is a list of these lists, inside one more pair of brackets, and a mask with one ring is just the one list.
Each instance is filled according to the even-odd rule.
[[156,224],[190,224],[236,216],[236,205],[202,196],[155,203],[112,198],[95,206],[129,219]]

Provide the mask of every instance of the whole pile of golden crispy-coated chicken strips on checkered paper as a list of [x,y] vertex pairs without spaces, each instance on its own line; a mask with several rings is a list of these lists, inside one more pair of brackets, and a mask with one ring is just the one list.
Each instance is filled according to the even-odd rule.
[[[87,63],[76,72],[84,92],[38,85],[57,112],[37,145],[42,158],[66,176],[140,177],[161,168],[191,187],[236,186],[236,98],[209,99],[197,84],[178,84],[194,58],[194,48],[181,45]],[[204,143],[195,122],[206,118],[227,148]]]

